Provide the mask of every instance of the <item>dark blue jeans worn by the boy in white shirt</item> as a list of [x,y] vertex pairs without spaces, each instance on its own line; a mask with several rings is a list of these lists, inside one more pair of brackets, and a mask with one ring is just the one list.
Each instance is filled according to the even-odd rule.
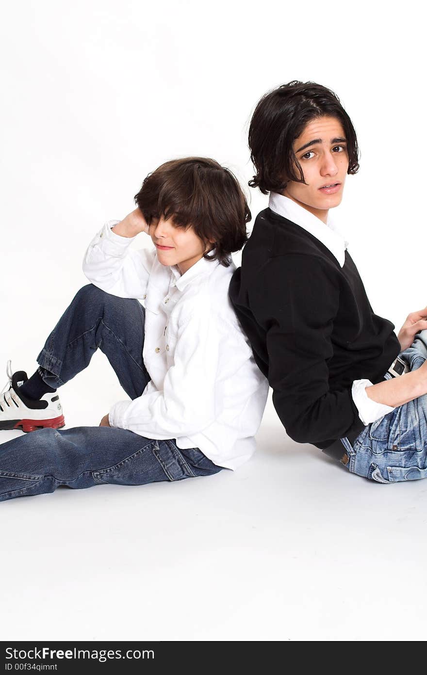
[[[39,373],[60,387],[82,371],[97,350],[107,356],[126,394],[143,393],[150,377],[143,363],[145,311],[138,300],[84,286],[37,357]],[[218,473],[199,448],[181,450],[111,427],[40,429],[0,445],[0,501],[102,483],[144,485]]]

